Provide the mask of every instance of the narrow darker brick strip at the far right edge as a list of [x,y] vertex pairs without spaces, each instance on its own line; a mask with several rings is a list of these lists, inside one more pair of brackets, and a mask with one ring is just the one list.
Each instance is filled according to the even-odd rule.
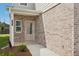
[[79,56],[79,3],[74,4],[74,54]]

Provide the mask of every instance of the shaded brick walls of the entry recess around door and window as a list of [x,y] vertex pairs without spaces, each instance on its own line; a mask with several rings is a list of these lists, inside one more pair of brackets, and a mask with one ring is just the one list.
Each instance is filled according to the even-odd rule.
[[[23,16],[23,15],[14,15],[14,23],[15,20],[22,20],[22,33],[15,32],[15,25],[14,25],[14,44],[17,43],[24,43],[25,41],[25,25],[24,22],[27,20],[34,20],[35,21],[35,41],[43,46],[46,46],[45,35],[44,35],[44,28],[42,22],[42,16],[34,17],[34,16]],[[27,44],[27,43],[26,43]]]

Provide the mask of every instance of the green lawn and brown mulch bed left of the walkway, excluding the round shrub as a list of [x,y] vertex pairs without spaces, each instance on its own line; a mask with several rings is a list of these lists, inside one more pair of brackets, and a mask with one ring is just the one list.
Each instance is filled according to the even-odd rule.
[[[8,45],[9,34],[0,34],[0,48]],[[22,47],[21,47],[22,48]],[[6,47],[5,49],[0,49],[1,56],[31,56],[30,51],[27,50],[25,52],[17,51],[17,46],[12,48]]]

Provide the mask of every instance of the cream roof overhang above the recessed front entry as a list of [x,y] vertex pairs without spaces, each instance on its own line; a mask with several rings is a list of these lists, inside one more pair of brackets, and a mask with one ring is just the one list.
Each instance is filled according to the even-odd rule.
[[19,15],[38,16],[42,13],[41,11],[16,8],[16,7],[7,7],[7,9],[10,10],[12,13]]

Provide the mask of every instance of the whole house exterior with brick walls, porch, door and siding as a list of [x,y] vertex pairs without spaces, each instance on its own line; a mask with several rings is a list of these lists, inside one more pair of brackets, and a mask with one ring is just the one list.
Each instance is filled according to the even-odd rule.
[[79,55],[79,4],[17,3],[8,7],[13,46],[35,41],[59,55]]

